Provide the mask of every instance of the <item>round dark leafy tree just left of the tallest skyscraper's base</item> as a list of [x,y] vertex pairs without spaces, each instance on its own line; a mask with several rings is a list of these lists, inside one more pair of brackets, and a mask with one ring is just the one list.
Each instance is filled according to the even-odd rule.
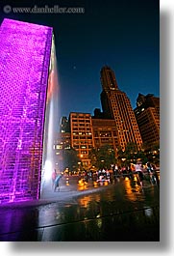
[[96,168],[111,168],[111,164],[115,162],[115,153],[110,145],[105,145],[99,149],[92,149],[89,153],[91,164]]

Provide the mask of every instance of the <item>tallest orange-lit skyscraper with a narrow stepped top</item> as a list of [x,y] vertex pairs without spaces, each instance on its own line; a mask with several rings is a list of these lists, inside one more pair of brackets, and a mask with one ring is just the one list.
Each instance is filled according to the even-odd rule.
[[101,70],[101,103],[105,116],[115,121],[118,145],[124,150],[127,143],[133,142],[140,149],[142,139],[137,127],[137,120],[127,95],[120,91],[110,67]]

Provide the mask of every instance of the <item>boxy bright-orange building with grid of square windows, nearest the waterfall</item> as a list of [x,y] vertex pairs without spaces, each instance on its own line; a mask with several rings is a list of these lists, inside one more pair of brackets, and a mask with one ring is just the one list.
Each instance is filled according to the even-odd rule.
[[89,151],[94,147],[91,115],[88,113],[70,113],[71,147],[74,148],[84,167],[90,165]]

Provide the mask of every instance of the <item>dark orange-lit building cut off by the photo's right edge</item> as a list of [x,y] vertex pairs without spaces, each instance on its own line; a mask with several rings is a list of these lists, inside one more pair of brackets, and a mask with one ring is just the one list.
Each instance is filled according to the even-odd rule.
[[138,94],[134,111],[143,143],[160,143],[160,98]]

